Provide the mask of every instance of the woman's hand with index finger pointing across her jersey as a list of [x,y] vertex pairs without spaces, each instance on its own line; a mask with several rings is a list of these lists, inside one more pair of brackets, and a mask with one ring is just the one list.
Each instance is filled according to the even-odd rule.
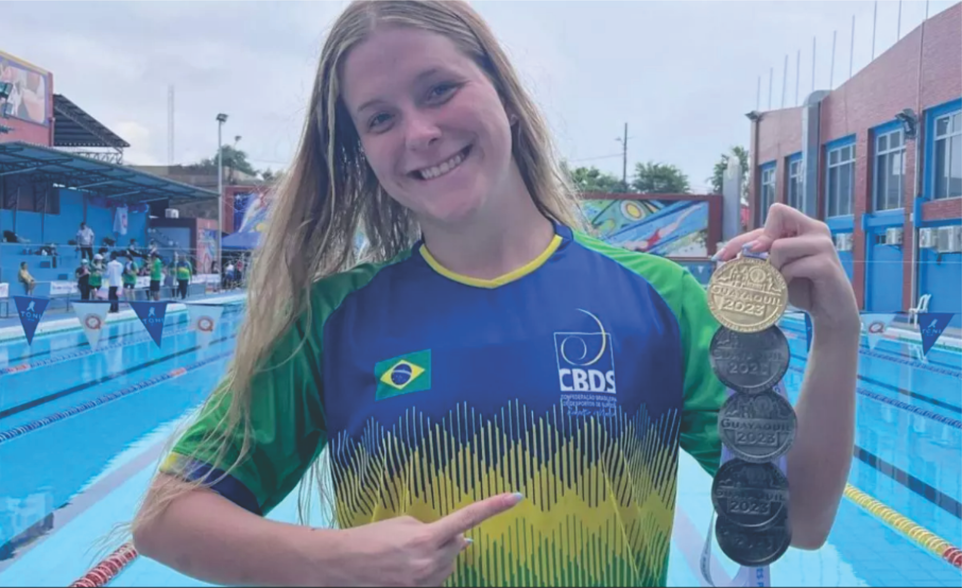
[[[454,573],[455,560],[470,542],[465,533],[519,503],[519,494],[502,494],[468,504],[434,523],[397,517],[344,529],[337,534],[338,575],[328,569],[327,585],[441,586]],[[318,571],[319,572],[319,571]],[[335,584],[329,583],[336,579]]]

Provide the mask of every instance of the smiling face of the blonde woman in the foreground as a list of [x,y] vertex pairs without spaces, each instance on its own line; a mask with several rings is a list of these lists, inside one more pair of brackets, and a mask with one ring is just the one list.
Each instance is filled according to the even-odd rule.
[[342,89],[381,186],[422,222],[467,220],[503,192],[508,115],[488,77],[448,38],[378,29],[347,56]]

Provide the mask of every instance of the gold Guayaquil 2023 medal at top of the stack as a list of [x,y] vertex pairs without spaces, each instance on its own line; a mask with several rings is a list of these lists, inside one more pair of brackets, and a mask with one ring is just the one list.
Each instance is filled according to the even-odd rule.
[[733,331],[764,331],[788,308],[788,285],[768,261],[738,257],[712,273],[708,308]]

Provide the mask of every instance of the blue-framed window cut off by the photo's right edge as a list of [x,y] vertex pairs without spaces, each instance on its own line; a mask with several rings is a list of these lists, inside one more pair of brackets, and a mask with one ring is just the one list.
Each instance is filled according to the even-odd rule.
[[962,99],[925,113],[925,197],[962,196]]

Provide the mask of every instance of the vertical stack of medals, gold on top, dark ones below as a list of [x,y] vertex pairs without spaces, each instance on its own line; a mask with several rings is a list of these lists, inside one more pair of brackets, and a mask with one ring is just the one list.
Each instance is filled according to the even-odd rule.
[[790,354],[777,325],[788,287],[767,260],[742,255],[715,270],[708,304],[722,324],[711,343],[712,368],[729,389],[719,414],[722,467],[712,483],[715,536],[732,561],[768,566],[792,539],[784,471],[796,416],[782,396]]

